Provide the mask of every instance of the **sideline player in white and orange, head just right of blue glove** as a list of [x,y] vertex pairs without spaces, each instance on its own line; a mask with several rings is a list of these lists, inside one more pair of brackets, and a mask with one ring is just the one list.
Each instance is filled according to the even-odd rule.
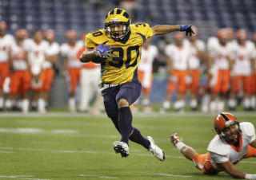
[[201,61],[206,59],[206,45],[202,40],[198,39],[198,29],[193,27],[194,36],[188,37],[189,41],[187,46],[189,49],[188,65],[189,65],[189,76],[191,82],[190,88],[190,108],[196,110],[198,108],[197,92],[200,85],[200,65]]

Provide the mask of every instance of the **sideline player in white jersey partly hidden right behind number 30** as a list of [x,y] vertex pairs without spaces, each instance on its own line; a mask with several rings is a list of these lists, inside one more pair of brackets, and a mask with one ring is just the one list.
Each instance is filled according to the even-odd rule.
[[151,112],[150,89],[153,83],[153,62],[158,57],[158,48],[151,45],[152,39],[149,38],[142,45],[142,57],[138,64],[138,80],[142,83],[142,106],[145,112]]

